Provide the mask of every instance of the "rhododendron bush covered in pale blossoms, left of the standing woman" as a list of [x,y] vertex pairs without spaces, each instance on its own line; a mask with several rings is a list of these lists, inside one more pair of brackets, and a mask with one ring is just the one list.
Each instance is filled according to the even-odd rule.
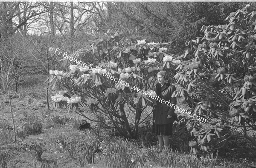
[[[66,107],[92,120],[86,115],[88,108],[85,107],[89,107],[96,117],[109,118],[125,137],[136,137],[139,124],[150,115],[152,108],[143,118],[142,114],[147,106],[153,106],[154,100],[132,90],[131,86],[155,94],[152,90],[157,72],[163,69],[171,72],[180,63],[177,56],[168,52],[168,44],[147,43],[145,39],[116,31],[90,40],[85,48],[70,55],[90,66],[62,59],[69,67],[67,72],[50,70],[50,87],[59,90],[51,97],[55,108]],[[131,113],[134,113],[133,123],[128,121]]]

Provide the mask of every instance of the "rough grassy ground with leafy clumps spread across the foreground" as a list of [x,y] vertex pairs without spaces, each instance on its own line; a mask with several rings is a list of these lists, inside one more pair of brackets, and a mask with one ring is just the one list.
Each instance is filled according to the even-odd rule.
[[[102,123],[105,122],[105,118],[99,116],[97,123],[90,122],[92,124],[91,129],[79,130],[79,126],[81,125],[81,119],[77,119],[77,115],[73,113],[67,113],[63,109],[60,115],[52,115],[49,114],[50,117],[47,118],[45,116],[43,108],[36,111],[36,115],[29,115],[31,112],[35,112],[32,110],[34,106],[33,103],[36,103],[36,98],[39,100],[42,97],[45,97],[43,94],[44,91],[40,91],[39,87],[32,89],[31,92],[24,92],[27,94],[27,97],[24,98],[23,102],[29,100],[28,107],[23,106],[23,120],[19,120],[18,111],[15,116],[15,120],[17,121],[17,137],[23,138],[19,140],[19,146],[22,148],[16,149],[13,148],[13,130],[11,126],[7,122],[0,123],[0,160],[2,162],[4,158],[4,162],[8,167],[20,168],[20,167],[32,167],[30,164],[32,162],[36,162],[36,165],[40,168],[65,168],[65,167],[95,167],[95,168],[118,168],[118,167],[129,167],[129,168],[152,168],[152,167],[191,167],[191,168],[202,168],[202,167],[253,167],[255,162],[253,159],[247,159],[247,155],[249,154],[241,154],[241,149],[244,151],[254,152],[255,148],[249,150],[250,144],[245,144],[244,147],[239,145],[239,140],[237,141],[237,146],[234,146],[230,142],[227,144],[227,156],[223,157],[217,154],[202,154],[200,157],[195,156],[193,154],[189,154],[189,146],[187,136],[174,134],[170,138],[170,144],[173,148],[170,150],[164,150],[161,153],[158,153],[157,148],[154,147],[157,144],[157,137],[150,133],[152,120],[151,118],[147,118],[142,125],[140,125],[140,129],[143,131],[139,132],[139,138],[142,143],[147,144],[147,146],[141,146],[141,142],[138,143],[136,140],[128,140],[122,137],[113,136],[111,129],[107,129],[102,126]],[[28,88],[29,90],[29,88]],[[38,93],[39,92],[39,93]],[[41,96],[42,95],[42,96]],[[17,98],[18,100],[18,98]],[[14,105],[19,107],[19,104],[15,103],[15,98],[13,99]],[[18,100],[20,101],[20,100]],[[44,100],[45,101],[45,100]],[[50,104],[51,104],[50,100]],[[6,106],[7,108],[7,106]],[[30,109],[29,109],[30,108]],[[55,112],[51,110],[50,112]],[[8,114],[0,113],[0,115]],[[20,114],[22,115],[22,114]],[[90,115],[90,114],[88,114]],[[67,116],[67,117],[66,117]],[[47,119],[46,119],[47,118]],[[75,119],[76,118],[76,119]],[[6,119],[7,120],[7,119]],[[45,128],[44,132],[42,132],[42,121],[52,122],[51,124],[57,125],[58,128]],[[73,122],[69,122],[72,120]],[[34,124],[32,122],[39,123]],[[28,125],[24,127],[24,122]],[[70,124],[69,124],[70,123]],[[21,129],[20,126],[23,126]],[[45,124],[43,125],[45,126]],[[148,132],[144,132],[148,131]],[[29,132],[33,132],[29,134]],[[60,132],[65,132],[60,133]],[[41,134],[39,134],[41,133]],[[28,134],[28,135],[24,135]],[[83,137],[83,138],[82,138]],[[44,139],[43,142],[38,141],[36,139]],[[33,141],[30,145],[29,142]],[[56,143],[58,140],[58,143]],[[171,143],[172,142],[172,143]],[[12,143],[12,144],[10,144]],[[45,150],[45,144],[47,144],[47,150]],[[60,148],[59,144],[61,144],[62,148]],[[48,150],[49,146],[49,150]],[[231,150],[232,148],[238,148],[237,151]],[[3,151],[7,151],[6,149],[11,150],[9,153],[12,153],[12,157],[10,154],[3,153]],[[177,150],[175,150],[177,149]],[[230,149],[230,150],[228,150]],[[248,150],[246,150],[248,149]],[[253,151],[254,150],[254,151]],[[253,153],[255,154],[255,153]],[[253,158],[253,154],[250,154],[250,157]],[[43,159],[42,159],[43,156]],[[218,157],[217,157],[218,156]],[[40,159],[41,158],[41,159]],[[46,158],[51,158],[47,159]],[[239,159],[239,158],[243,158]],[[38,161],[41,160],[41,161]],[[56,162],[58,160],[58,162]],[[5,164],[4,163],[4,164]],[[93,165],[90,165],[93,164]],[[35,168],[38,168],[35,166]],[[1,167],[1,166],[0,166]]]

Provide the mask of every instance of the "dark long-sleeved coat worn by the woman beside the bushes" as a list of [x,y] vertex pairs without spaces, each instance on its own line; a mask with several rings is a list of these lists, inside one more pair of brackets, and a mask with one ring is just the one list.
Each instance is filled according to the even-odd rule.
[[[175,114],[174,106],[177,104],[177,99],[172,98],[172,93],[176,90],[176,87],[172,84],[165,83],[163,87],[161,84],[156,84],[156,93],[159,95],[161,99],[155,99],[157,102],[157,106],[155,107],[153,111],[153,121],[156,124],[167,124],[167,123],[173,123],[175,121],[175,118],[177,115]],[[161,103],[161,100],[164,100],[163,103]],[[166,103],[167,101],[167,103]],[[174,104],[171,107],[171,104],[168,106],[168,101],[171,102],[171,104]],[[172,118],[167,118],[167,116],[170,115]]]

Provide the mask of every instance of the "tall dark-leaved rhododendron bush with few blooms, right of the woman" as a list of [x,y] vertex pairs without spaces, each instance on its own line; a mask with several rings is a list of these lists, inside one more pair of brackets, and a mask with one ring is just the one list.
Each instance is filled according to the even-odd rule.
[[[184,101],[212,124],[186,124],[194,153],[223,147],[237,130],[256,146],[256,8],[247,5],[226,20],[227,25],[203,26],[202,37],[187,40],[188,62],[176,68]],[[214,136],[219,138],[212,144]]]

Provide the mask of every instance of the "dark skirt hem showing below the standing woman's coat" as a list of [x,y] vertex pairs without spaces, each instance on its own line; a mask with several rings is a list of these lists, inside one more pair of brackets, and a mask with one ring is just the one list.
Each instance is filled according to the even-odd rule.
[[172,135],[172,126],[173,123],[167,124],[156,124],[153,122],[152,132],[157,135]]

